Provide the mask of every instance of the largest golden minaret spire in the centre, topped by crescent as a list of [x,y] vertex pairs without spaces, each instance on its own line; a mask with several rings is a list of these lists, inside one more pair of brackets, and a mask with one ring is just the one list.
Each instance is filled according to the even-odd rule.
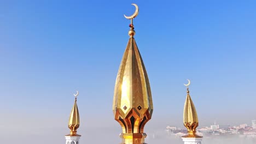
[[118,70],[113,98],[114,117],[123,129],[120,137],[125,144],[144,143],[147,136],[144,125],[153,112],[147,71],[133,38],[135,31],[132,20],[138,15],[138,6],[132,5],[135,5],[136,11],[132,16],[125,16],[131,20],[130,39]]

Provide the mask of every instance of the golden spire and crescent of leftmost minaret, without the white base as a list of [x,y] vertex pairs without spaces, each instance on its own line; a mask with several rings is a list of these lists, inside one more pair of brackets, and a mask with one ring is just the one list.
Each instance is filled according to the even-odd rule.
[[70,129],[69,136],[78,136],[77,129],[79,128],[79,125],[80,125],[80,118],[79,118],[79,112],[77,107],[78,94],[79,94],[78,91],[77,91],[77,94],[74,94],[75,96],[74,106],[69,116],[69,121],[68,121],[68,128]]

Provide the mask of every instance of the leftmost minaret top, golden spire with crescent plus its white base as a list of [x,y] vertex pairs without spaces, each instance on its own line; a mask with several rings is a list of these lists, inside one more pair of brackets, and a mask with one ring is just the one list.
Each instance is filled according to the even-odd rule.
[[78,144],[79,139],[81,135],[77,134],[77,129],[80,125],[80,118],[79,118],[79,112],[77,107],[77,96],[79,92],[77,91],[77,94],[74,94],[75,100],[74,100],[74,106],[71,110],[69,121],[68,121],[68,128],[70,129],[70,134],[66,135],[66,144],[72,143],[72,144]]

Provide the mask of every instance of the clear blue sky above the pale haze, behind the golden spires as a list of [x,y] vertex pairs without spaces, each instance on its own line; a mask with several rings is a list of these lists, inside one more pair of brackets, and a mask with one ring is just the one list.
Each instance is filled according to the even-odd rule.
[[256,119],[256,1],[1,1],[0,126],[66,127],[78,90],[82,126],[119,127],[112,100],[131,3],[151,123],[182,125],[186,79],[202,125]]

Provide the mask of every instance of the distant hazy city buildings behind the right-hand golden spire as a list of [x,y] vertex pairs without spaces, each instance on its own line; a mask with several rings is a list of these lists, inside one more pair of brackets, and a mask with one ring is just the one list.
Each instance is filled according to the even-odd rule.
[[[184,136],[187,135],[187,129],[178,128],[176,126],[167,126],[166,131],[168,135]],[[245,124],[240,125],[210,125],[210,127],[197,128],[196,134],[203,137],[210,136],[237,136],[237,137],[254,137],[256,138],[256,120],[252,120],[252,125]]]

